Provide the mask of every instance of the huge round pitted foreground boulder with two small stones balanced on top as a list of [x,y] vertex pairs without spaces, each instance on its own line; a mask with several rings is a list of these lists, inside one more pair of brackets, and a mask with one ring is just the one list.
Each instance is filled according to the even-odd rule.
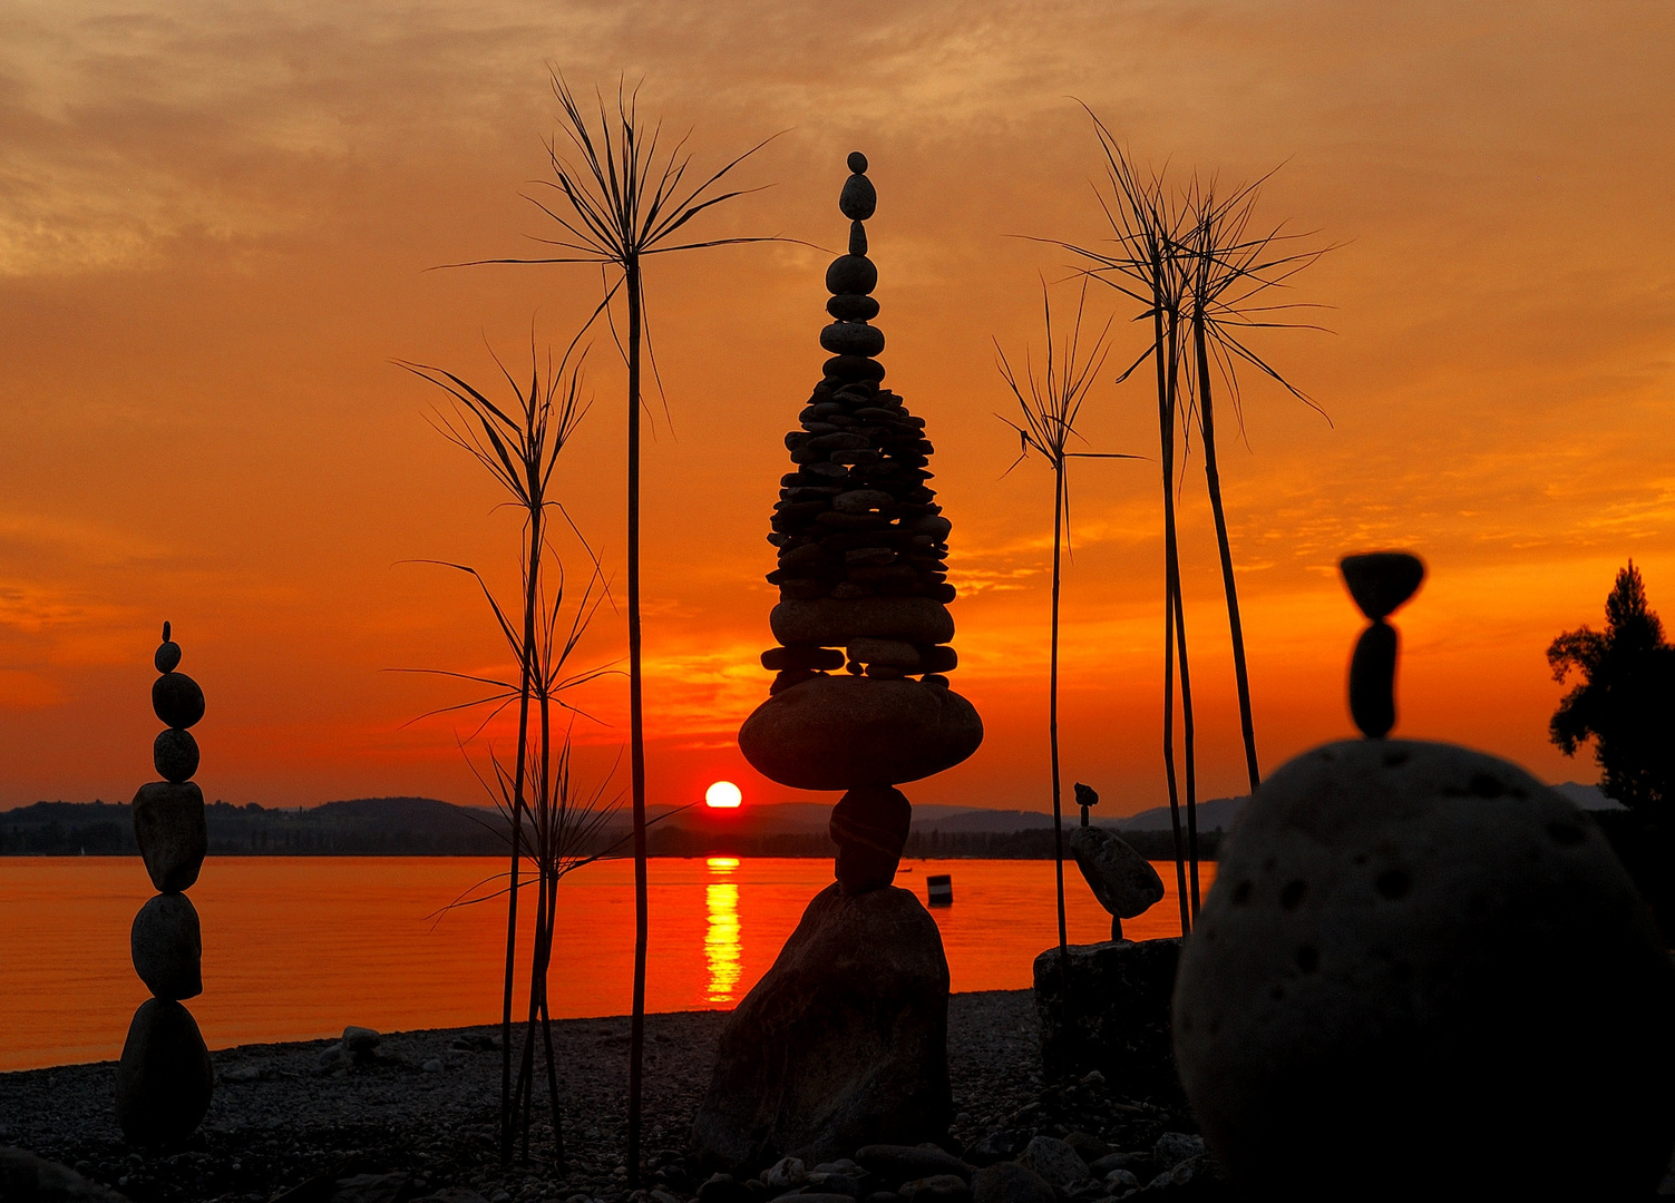
[[1181,1084],[1248,1198],[1648,1196],[1675,1144],[1675,967],[1568,800],[1384,738],[1382,619],[1422,574],[1343,562],[1374,619],[1367,738],[1280,768],[1223,845],[1176,979]]

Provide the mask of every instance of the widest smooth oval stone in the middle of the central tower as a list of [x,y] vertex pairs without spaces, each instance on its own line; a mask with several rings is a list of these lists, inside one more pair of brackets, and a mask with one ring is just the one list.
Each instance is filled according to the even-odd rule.
[[853,676],[782,689],[739,728],[745,760],[796,790],[916,781],[953,768],[982,741],[983,721],[951,689]]

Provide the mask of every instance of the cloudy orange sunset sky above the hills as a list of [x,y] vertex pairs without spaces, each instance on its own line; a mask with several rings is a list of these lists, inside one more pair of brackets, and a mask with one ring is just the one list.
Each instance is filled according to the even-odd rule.
[[[127,798],[151,776],[164,617],[209,698],[208,796],[265,805],[481,795],[459,699],[385,673],[492,668],[456,559],[504,586],[516,525],[425,423],[410,358],[492,381],[596,296],[583,268],[425,268],[528,253],[573,84],[645,79],[698,164],[789,131],[742,169],[772,189],[724,234],[843,239],[844,154],[869,223],[889,383],[930,423],[953,519],[955,688],[988,738],[920,801],[1042,808],[1044,467],[1015,437],[992,336],[1037,333],[1037,273],[1089,243],[1092,105],[1142,162],[1223,181],[1275,164],[1261,214],[1340,249],[1298,281],[1333,333],[1270,358],[1323,422],[1251,385],[1223,479],[1265,768],[1348,731],[1358,616],[1340,554],[1412,547],[1430,581],[1399,617],[1402,735],[1548,780],[1543,651],[1601,619],[1633,555],[1675,621],[1675,8],[1668,3],[219,3],[0,15],[0,806]],[[824,353],[827,256],[705,251],[650,278],[670,423],[645,457],[653,801],[717,776],[764,696],[776,479]],[[1104,311],[1114,298],[1099,296]],[[1139,350],[1119,313],[1114,360]],[[563,497],[621,572],[621,373],[566,452]],[[1156,407],[1100,381],[1084,427],[1154,452]],[[1186,484],[1204,795],[1243,781],[1214,547]],[[1079,465],[1065,584],[1067,776],[1112,810],[1162,801],[1156,463]],[[603,614],[588,649],[620,654]],[[590,708],[625,738],[620,681]]]

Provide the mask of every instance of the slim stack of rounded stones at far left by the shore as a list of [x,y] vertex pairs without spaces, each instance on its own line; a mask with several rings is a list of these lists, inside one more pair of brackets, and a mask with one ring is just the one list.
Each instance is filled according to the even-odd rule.
[[209,1109],[214,1071],[209,1049],[181,999],[203,994],[203,937],[186,890],[198,880],[209,833],[198,771],[198,741],[188,729],[204,714],[204,694],[176,673],[181,648],[162,624],[151,706],[166,729],[152,745],[164,780],[134,795],[134,838],[157,895],[134,917],[134,972],[152,997],[134,1012],[116,1074],[122,1134],[134,1144],[173,1144],[193,1134]]

